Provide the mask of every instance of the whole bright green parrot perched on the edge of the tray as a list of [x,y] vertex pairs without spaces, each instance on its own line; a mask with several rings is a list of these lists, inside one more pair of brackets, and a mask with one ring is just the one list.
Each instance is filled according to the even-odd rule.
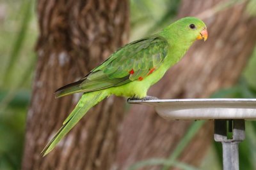
[[45,146],[42,155],[58,144],[86,112],[108,96],[150,99],[147,90],[179,62],[196,39],[207,39],[207,29],[198,18],[186,17],[163,31],[119,48],[81,80],[56,90],[56,98],[83,92],[76,108]]

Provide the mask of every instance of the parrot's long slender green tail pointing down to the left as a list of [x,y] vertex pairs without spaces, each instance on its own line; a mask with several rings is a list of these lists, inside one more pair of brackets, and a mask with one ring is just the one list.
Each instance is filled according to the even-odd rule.
[[55,134],[54,138],[45,146],[41,152],[42,156],[47,155],[59,143],[59,141],[77,124],[77,122],[92,108],[95,104],[109,96],[108,90],[100,90],[83,94],[76,108],[68,115],[63,122],[61,129]]

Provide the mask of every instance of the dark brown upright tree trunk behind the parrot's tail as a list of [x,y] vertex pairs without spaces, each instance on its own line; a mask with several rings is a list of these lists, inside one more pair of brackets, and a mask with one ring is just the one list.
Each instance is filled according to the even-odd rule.
[[113,163],[124,104],[116,97],[93,108],[47,157],[40,152],[79,99],[54,99],[54,90],[81,78],[127,43],[128,3],[38,0],[38,62],[22,169],[109,169]]

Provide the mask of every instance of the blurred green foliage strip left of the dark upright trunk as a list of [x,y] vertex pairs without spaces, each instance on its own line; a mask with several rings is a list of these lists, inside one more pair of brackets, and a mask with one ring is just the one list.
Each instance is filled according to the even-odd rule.
[[31,0],[1,1],[0,170],[20,169],[37,29]]

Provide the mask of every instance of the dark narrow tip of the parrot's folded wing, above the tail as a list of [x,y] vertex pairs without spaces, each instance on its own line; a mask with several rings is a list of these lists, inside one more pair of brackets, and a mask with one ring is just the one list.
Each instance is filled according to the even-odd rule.
[[70,83],[70,84],[65,85],[65,86],[61,87],[60,89],[56,90],[56,92],[54,93],[55,98],[67,96],[69,94],[74,94],[76,92],[81,92],[82,90],[79,87],[81,82],[83,82],[83,80],[79,80],[74,83]]

